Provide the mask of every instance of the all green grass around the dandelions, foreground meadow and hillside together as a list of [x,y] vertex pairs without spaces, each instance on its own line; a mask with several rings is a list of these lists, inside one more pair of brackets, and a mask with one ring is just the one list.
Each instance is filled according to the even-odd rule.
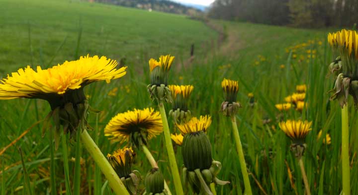
[[[92,127],[98,124],[98,133],[89,133],[98,138],[104,154],[123,146],[110,143],[103,134],[104,126],[115,114],[134,108],[157,108],[147,92],[150,83],[148,60],[172,54],[176,60],[170,84],[192,84],[194,90],[189,104],[192,115],[212,116],[207,134],[213,158],[223,165],[218,177],[231,182],[217,187],[218,195],[244,194],[230,119],[219,113],[223,101],[220,82],[224,77],[239,80],[238,101],[243,108],[237,120],[254,195],[305,194],[300,168],[289,150],[290,140],[278,127],[280,119],[313,121],[303,158],[311,193],[341,193],[341,114],[337,102],[329,101],[327,94],[334,84],[333,76],[327,77],[328,65],[334,58],[327,46],[326,30],[210,21],[225,34],[225,40],[218,41],[217,31],[182,15],[77,0],[0,2],[0,77],[26,65],[49,67],[87,54],[104,55],[118,62],[122,60],[128,66],[128,73],[123,78],[110,84],[93,83],[85,88],[89,104],[102,111],[97,116],[90,114],[88,121]],[[290,49],[302,43],[306,46],[293,49],[295,51]],[[191,44],[195,45],[195,57],[189,60]],[[298,84],[307,85],[307,109],[279,112],[275,104],[283,103],[284,97],[293,93]],[[109,95],[116,87],[117,94]],[[254,94],[255,106],[250,106],[247,96],[250,92]],[[358,194],[358,142],[355,141],[358,115],[351,99],[349,105],[351,188],[355,195]],[[166,105],[167,111],[170,108]],[[50,112],[47,102],[33,99],[0,100],[0,109],[0,149]],[[270,123],[263,123],[268,119]],[[173,130],[172,119],[169,121]],[[35,126],[0,155],[1,195],[28,193],[24,190],[27,187],[19,147],[34,195],[50,193],[51,172],[55,176],[57,194],[60,189],[66,190],[62,145],[58,150],[51,150],[53,142],[49,139],[49,130],[42,138],[41,128],[41,124]],[[319,130],[330,133],[331,144],[323,143],[322,138],[317,139]],[[75,167],[75,162],[71,161],[75,157],[75,145],[75,141],[68,145],[70,175]],[[174,193],[169,161],[163,149],[164,136],[150,140],[148,148]],[[180,170],[180,147],[175,149]],[[53,159],[51,152],[54,152]],[[94,161],[85,149],[82,158],[82,194],[97,195],[93,188],[99,188],[103,195],[110,195],[104,177],[95,178]],[[52,171],[51,160],[56,164]],[[139,170],[142,176],[151,169],[141,151],[137,151],[133,169]]]

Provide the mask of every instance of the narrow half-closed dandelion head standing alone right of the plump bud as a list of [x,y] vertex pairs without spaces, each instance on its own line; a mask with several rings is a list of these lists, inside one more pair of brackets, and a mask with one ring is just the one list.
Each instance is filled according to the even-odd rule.
[[232,116],[241,108],[240,103],[236,102],[237,93],[239,91],[238,81],[224,78],[221,82],[221,87],[224,90],[224,102],[221,104],[221,113],[224,116]]

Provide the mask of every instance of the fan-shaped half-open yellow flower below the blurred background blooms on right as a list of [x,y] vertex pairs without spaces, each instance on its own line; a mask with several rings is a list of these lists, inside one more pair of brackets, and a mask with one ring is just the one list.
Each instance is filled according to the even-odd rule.
[[287,120],[280,122],[278,126],[283,132],[293,140],[303,139],[311,129],[312,122]]

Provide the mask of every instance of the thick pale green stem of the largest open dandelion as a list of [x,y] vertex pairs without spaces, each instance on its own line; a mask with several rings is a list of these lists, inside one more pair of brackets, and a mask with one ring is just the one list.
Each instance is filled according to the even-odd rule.
[[109,164],[107,159],[103,156],[98,146],[94,143],[93,139],[89,136],[87,130],[83,130],[81,133],[82,143],[89,151],[89,154],[94,159],[96,164],[109,182],[109,186],[112,188],[116,195],[129,195],[125,186],[119,179],[112,166]]

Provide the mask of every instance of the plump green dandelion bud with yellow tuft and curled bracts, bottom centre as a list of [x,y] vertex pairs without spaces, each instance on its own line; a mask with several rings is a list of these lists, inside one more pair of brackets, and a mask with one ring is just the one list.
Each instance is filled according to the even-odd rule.
[[209,116],[193,117],[184,124],[177,124],[184,138],[182,140],[182,157],[184,162],[183,181],[198,195],[213,195],[210,184],[225,185],[216,178],[221,169],[221,163],[214,161],[211,156],[211,145],[205,132],[211,124]]

